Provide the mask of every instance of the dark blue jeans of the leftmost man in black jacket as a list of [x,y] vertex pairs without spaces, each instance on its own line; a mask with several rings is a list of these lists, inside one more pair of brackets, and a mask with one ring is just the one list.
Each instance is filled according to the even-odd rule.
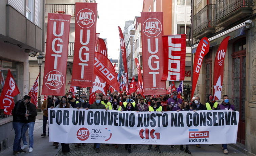
[[13,128],[15,132],[14,142],[13,142],[13,150],[19,151],[21,150],[20,142],[21,142],[21,134],[24,123],[22,122],[13,122]]

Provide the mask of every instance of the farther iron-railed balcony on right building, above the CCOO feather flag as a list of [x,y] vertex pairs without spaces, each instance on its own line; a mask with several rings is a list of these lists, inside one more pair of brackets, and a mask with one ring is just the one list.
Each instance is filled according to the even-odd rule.
[[202,38],[215,32],[215,4],[207,4],[193,18],[193,37]]

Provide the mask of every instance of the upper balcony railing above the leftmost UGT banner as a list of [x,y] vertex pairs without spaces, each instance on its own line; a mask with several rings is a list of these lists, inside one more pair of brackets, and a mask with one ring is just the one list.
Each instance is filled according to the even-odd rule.
[[45,4],[45,17],[48,13],[70,14],[75,17],[75,4]]

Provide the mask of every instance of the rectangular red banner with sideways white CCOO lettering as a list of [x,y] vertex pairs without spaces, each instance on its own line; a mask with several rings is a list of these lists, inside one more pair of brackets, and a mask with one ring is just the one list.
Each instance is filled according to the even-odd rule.
[[186,34],[163,36],[164,71],[162,81],[185,79]]

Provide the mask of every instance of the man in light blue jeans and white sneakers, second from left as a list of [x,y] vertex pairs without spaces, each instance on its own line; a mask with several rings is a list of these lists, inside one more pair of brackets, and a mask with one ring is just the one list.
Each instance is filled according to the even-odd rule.
[[33,144],[34,144],[33,131],[34,131],[34,124],[36,122],[36,116],[37,116],[36,105],[34,105],[31,102],[28,102],[27,103],[27,114],[29,115],[28,120],[25,120],[25,125],[24,125],[24,128],[22,129],[22,134],[21,134],[21,138],[23,141],[23,147],[21,149],[24,150],[26,147],[28,147],[26,136],[25,136],[25,133],[28,129],[28,136],[29,136],[28,152],[32,152]]

